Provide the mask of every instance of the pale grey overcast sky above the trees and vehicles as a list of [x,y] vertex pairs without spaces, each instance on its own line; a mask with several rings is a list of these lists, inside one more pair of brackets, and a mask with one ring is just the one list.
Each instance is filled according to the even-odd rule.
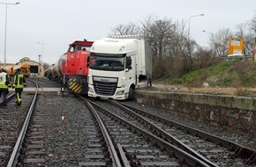
[[[74,40],[100,40],[111,28],[149,15],[187,23],[191,38],[208,46],[209,33],[236,26],[255,15],[255,0],[0,0],[7,5],[6,62],[23,57],[49,64],[57,62]],[[0,4],[0,62],[4,62],[5,4]],[[187,24],[188,25],[188,24]],[[38,42],[43,44],[38,44]],[[43,47],[43,49],[42,49]]]

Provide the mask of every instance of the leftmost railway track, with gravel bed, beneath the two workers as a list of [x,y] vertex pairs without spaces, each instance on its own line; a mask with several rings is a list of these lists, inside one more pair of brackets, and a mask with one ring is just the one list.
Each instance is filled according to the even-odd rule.
[[[6,108],[1,108],[0,123],[3,128],[0,130],[0,166],[15,166],[17,164],[36,98],[37,91],[34,92],[34,95],[30,95],[30,98],[27,98],[28,100],[23,100],[23,105],[19,106],[19,108],[13,108],[11,112],[5,112],[7,111]],[[11,94],[8,97],[8,105],[14,104],[15,99]],[[11,126],[6,126],[7,124],[11,124]]]

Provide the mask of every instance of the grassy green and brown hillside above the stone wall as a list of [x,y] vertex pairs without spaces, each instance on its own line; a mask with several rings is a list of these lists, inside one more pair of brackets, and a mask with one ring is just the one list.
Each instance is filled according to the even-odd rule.
[[152,89],[255,97],[256,62],[223,60],[184,76],[153,81]]

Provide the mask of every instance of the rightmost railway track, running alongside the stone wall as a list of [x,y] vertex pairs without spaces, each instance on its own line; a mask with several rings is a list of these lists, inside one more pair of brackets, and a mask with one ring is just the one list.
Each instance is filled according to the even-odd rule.
[[[116,101],[111,102],[119,108],[118,110],[113,105],[109,105],[108,109],[111,109],[112,113],[116,113],[125,120],[138,120],[133,123],[141,127],[149,127],[152,134],[161,136],[165,141],[200,158],[209,166],[254,166],[256,163],[256,151],[253,149],[146,111],[140,111],[130,105],[121,105]],[[106,108],[106,104],[104,107]]]

